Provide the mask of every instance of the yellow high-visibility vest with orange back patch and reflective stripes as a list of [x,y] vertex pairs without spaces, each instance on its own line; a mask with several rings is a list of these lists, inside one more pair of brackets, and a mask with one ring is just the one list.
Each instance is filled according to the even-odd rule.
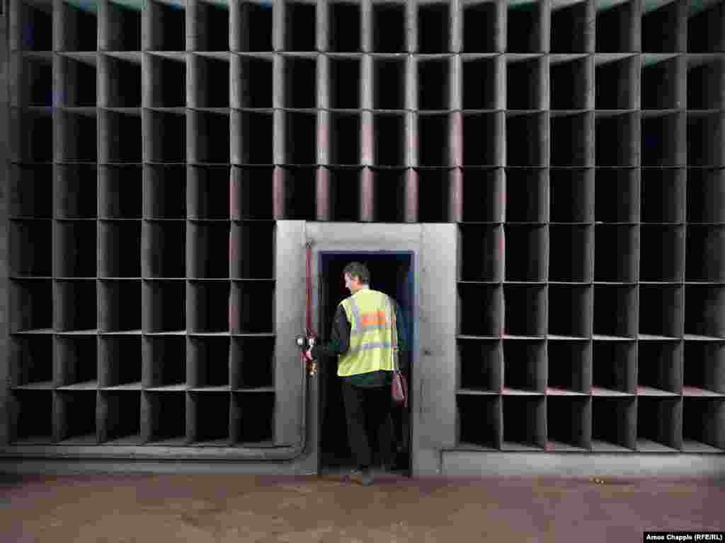
[[[350,323],[350,345],[340,355],[339,376],[393,371],[394,308],[384,292],[363,288],[340,302]],[[397,345],[395,345],[397,348]]]

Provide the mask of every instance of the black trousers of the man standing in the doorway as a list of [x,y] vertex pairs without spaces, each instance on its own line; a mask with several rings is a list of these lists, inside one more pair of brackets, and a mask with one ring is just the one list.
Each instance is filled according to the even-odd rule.
[[394,437],[390,387],[356,387],[343,379],[342,397],[347,417],[347,437],[357,467],[372,466],[373,441],[377,441],[381,463],[392,463]]

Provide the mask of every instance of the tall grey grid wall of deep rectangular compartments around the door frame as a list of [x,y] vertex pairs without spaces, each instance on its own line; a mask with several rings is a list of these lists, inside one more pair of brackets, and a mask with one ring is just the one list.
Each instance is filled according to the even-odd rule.
[[690,4],[9,0],[2,454],[291,446],[300,220],[457,224],[466,462],[721,458],[725,8]]

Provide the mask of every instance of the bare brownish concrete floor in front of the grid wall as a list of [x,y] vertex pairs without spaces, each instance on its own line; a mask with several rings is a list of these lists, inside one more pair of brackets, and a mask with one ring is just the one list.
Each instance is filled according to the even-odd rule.
[[2,542],[641,542],[725,530],[725,480],[0,476]]

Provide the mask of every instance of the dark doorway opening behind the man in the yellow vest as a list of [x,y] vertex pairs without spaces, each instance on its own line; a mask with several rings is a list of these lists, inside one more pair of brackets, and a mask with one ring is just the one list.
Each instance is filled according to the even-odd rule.
[[[413,378],[413,345],[415,345],[415,273],[412,252],[320,252],[320,322],[319,333],[323,342],[330,332],[337,305],[349,296],[342,270],[352,261],[362,262],[370,270],[370,288],[385,292],[394,298],[402,310],[405,340],[408,348],[400,354],[400,366],[411,383]],[[352,451],[348,445],[347,424],[337,376],[336,359],[320,361],[320,472],[354,467]],[[410,476],[411,406],[415,398],[410,393],[407,410],[393,406],[397,458],[395,471]],[[373,462],[379,463],[375,433]]]

